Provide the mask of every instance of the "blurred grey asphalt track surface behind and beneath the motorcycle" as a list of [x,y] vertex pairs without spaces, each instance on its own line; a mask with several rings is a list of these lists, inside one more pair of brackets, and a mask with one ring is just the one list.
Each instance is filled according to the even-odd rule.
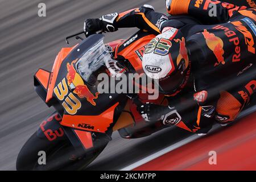
[[[46,3],[46,18],[37,14],[40,2]],[[65,36],[81,31],[86,18],[145,3],[165,12],[164,1],[155,0],[0,0],[0,170],[15,170],[20,148],[53,111],[34,92],[33,75],[38,68],[51,70],[60,48],[67,46]],[[136,30],[108,34],[105,42],[128,38]],[[88,169],[122,169],[190,135],[170,128],[150,137],[126,140],[114,133]]]

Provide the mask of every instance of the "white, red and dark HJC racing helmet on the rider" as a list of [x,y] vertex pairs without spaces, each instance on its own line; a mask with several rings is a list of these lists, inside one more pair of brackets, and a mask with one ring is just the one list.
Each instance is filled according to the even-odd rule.
[[188,81],[191,64],[182,32],[166,27],[145,47],[143,70],[159,86],[159,92],[175,96]]

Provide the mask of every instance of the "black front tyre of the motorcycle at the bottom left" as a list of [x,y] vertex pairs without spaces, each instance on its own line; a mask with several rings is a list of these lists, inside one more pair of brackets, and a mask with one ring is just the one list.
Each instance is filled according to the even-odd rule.
[[[18,171],[81,170],[85,169],[106,147],[105,142],[90,154],[78,155],[69,140],[59,142],[39,138],[34,133],[24,144],[16,160]],[[46,164],[39,164],[39,151],[46,154]]]

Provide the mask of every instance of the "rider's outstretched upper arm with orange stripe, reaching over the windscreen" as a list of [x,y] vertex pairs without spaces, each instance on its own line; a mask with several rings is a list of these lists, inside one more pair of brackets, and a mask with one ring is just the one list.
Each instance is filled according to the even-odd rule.
[[158,35],[164,27],[180,28],[183,22],[171,19],[162,13],[157,13],[154,7],[144,5],[137,9],[131,9],[123,13],[112,13],[101,16],[100,19],[87,19],[84,31],[87,36],[97,31],[114,32],[118,28],[137,27],[152,34]]

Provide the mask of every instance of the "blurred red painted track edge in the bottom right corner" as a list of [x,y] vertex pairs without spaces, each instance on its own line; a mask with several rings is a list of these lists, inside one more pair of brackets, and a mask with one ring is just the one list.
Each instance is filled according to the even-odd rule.
[[[243,127],[243,126],[248,127]],[[238,134],[238,135],[234,135]],[[217,164],[210,165],[209,151]],[[256,113],[236,125],[188,143],[134,170],[255,170]]]

